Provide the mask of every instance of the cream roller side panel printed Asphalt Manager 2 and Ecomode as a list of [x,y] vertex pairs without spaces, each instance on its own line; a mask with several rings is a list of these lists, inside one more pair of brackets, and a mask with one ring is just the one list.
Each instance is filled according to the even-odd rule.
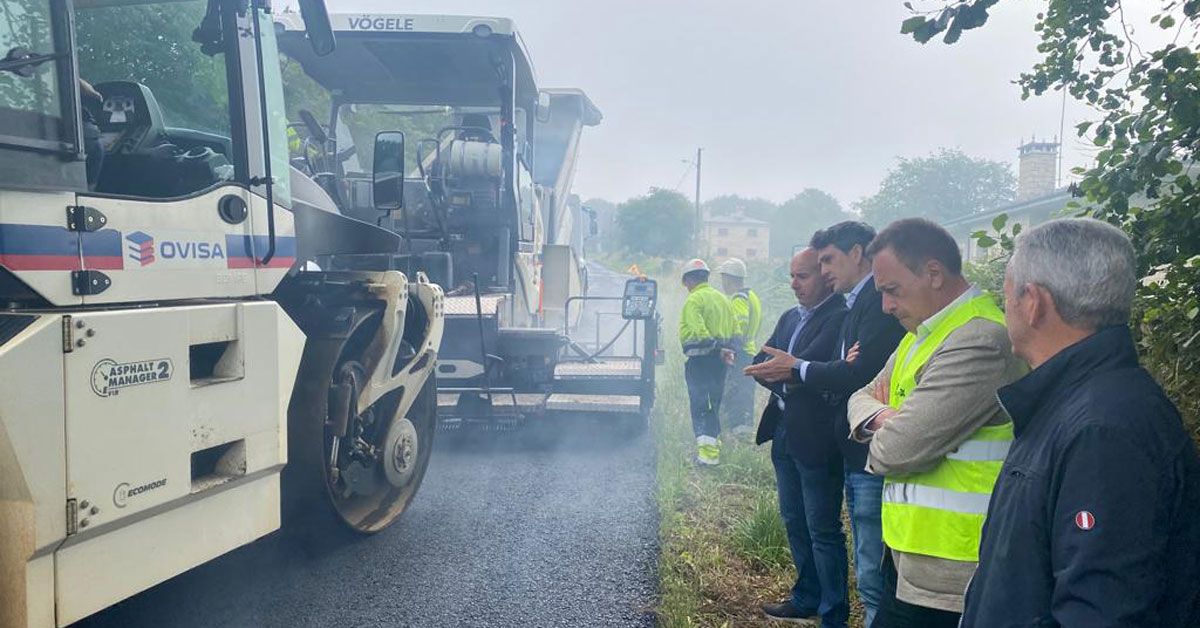
[[[74,317],[86,345],[67,355],[68,497],[98,507],[80,513],[80,537],[205,490],[208,476],[282,465],[276,373],[296,369],[281,341],[299,341],[281,337],[283,316],[262,301]],[[229,468],[193,463],[227,443],[241,443]]]

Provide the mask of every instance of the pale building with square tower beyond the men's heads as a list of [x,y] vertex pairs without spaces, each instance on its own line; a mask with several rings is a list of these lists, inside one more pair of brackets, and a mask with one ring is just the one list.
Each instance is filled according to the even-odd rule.
[[1067,208],[1067,203],[1072,199],[1070,192],[1056,185],[1058,150],[1057,142],[1032,140],[1022,144],[1018,148],[1016,201],[943,223],[959,243],[964,261],[985,259],[995,253],[982,249],[971,234],[979,231],[991,233],[994,231],[991,223],[996,216],[1007,215],[1007,226],[1020,223],[1022,228],[1030,228],[1058,217]]

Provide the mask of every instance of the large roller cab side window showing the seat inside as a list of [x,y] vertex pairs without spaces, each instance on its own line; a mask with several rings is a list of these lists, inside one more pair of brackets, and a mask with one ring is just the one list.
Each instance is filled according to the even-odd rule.
[[172,198],[245,180],[229,97],[236,23],[220,11],[228,5],[212,2],[212,14],[206,0],[78,6],[84,138],[98,136],[102,152],[89,186]]

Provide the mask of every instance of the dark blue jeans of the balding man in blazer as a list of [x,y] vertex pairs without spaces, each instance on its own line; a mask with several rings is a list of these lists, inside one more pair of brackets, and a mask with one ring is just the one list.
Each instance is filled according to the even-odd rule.
[[841,530],[841,462],[808,467],[787,453],[782,424],[770,445],[779,486],[779,514],[796,563],[792,605],[821,615],[823,628],[850,618],[846,534]]

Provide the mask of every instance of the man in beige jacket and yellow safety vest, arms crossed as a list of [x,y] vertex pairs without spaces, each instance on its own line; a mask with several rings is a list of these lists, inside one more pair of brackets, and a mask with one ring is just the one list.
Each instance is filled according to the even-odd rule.
[[954,238],[924,219],[868,250],[883,310],[908,331],[850,399],[851,436],[883,476],[884,592],[874,628],[954,628],[1013,424],[996,390],[1025,372],[992,295],[962,277]]

